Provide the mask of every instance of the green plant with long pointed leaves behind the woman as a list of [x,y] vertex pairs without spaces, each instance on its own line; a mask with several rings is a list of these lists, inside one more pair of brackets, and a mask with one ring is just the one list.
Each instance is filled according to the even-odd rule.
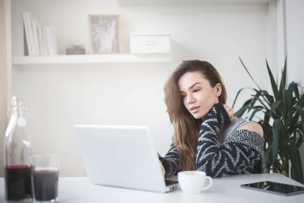
[[[275,81],[266,60],[273,95],[261,89],[242,60],[241,63],[257,88],[242,88],[238,91],[233,107],[244,89],[251,89],[254,94],[235,113],[235,117],[246,117],[249,120],[255,118],[257,119],[255,121],[262,126],[265,139],[265,164],[268,172],[272,170],[274,173],[288,176],[290,161],[291,179],[304,183],[298,150],[304,142],[304,94],[299,94],[297,83],[286,84],[286,59],[280,84]],[[257,112],[261,112],[259,115],[262,115],[262,118],[256,116]]]

